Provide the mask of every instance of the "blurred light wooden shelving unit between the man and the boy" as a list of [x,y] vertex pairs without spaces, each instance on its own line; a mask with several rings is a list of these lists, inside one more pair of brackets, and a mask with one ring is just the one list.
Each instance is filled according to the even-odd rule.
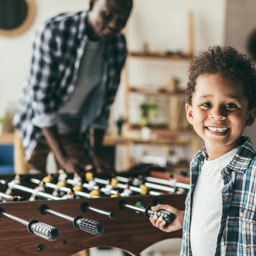
[[[185,61],[188,64],[189,60],[193,56],[194,46],[193,46],[193,14],[188,14],[188,52],[140,52],[140,51],[129,51],[127,57],[126,67],[123,70],[123,79],[125,83],[125,97],[124,104],[125,110],[124,116],[127,117],[128,123],[126,123],[125,128],[123,129],[123,134],[118,135],[107,135],[105,136],[104,144],[105,145],[126,145],[126,164],[127,167],[132,167],[132,161],[129,160],[130,148],[135,145],[181,145],[184,147],[190,147],[192,153],[194,154],[199,149],[199,139],[198,136],[193,132],[191,126],[188,125],[185,127],[178,127],[176,129],[170,128],[169,124],[158,124],[153,125],[151,128],[151,137],[149,139],[142,139],[139,130],[141,127],[139,124],[131,123],[129,121],[129,95],[133,93],[137,95],[145,95],[148,97],[166,97],[168,98],[185,98],[185,90],[177,89],[170,90],[165,85],[156,85],[156,86],[135,86],[129,81],[129,60],[136,59],[136,61],[146,61],[150,63],[151,61]],[[161,68],[161,64],[160,67]],[[175,103],[174,103],[175,104]],[[175,112],[175,111],[174,111]],[[177,114],[177,113],[174,113]],[[184,113],[183,113],[184,114]],[[184,123],[184,121],[183,121]]]

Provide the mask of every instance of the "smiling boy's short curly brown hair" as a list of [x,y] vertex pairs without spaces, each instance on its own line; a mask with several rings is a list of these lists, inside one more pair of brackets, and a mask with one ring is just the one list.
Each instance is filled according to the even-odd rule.
[[220,74],[221,76],[240,81],[245,96],[249,100],[248,110],[256,107],[256,70],[250,58],[241,54],[232,46],[210,46],[191,59],[186,87],[186,102],[192,105],[196,79],[204,74]]

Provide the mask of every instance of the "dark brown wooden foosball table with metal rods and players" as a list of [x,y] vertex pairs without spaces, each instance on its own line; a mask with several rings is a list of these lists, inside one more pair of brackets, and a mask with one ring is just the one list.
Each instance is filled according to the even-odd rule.
[[162,232],[148,217],[158,214],[173,221],[173,214],[152,212],[151,206],[183,210],[189,184],[156,173],[2,174],[1,251],[64,256],[107,246],[139,255],[156,242],[181,238],[182,230]]

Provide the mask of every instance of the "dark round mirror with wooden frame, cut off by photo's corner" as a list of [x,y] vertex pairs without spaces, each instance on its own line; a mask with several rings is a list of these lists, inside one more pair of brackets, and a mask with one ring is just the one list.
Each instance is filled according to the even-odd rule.
[[0,35],[24,32],[35,15],[33,0],[0,0]]

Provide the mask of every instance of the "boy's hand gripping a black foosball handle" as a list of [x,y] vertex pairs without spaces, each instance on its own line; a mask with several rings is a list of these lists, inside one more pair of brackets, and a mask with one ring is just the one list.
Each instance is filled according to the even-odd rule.
[[174,221],[168,226],[166,225],[166,221],[162,216],[158,217],[155,215],[153,217],[149,217],[149,221],[154,227],[157,227],[164,232],[173,232],[182,229],[185,211],[180,211],[177,208],[167,204],[158,204],[156,206],[152,206],[151,209],[153,211],[166,210],[175,215]]

